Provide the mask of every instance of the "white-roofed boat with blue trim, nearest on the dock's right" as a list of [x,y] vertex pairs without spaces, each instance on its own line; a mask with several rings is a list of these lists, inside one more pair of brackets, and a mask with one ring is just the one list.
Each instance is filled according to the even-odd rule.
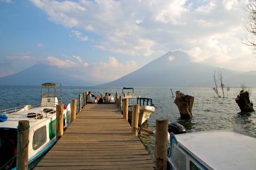
[[255,169],[256,138],[237,130],[170,135],[167,169]]

